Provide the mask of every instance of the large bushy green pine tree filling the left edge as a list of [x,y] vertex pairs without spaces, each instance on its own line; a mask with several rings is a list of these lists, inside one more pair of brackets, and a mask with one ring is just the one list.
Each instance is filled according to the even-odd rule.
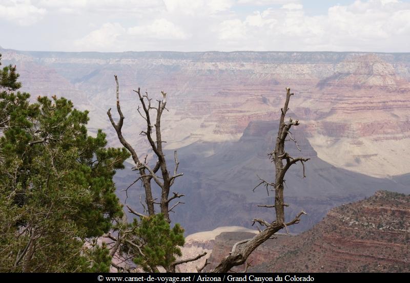
[[107,272],[107,247],[86,240],[122,215],[112,178],[129,154],[107,148],[101,130],[89,136],[88,112],[71,101],[15,93],[17,79],[15,67],[3,68],[0,272]]

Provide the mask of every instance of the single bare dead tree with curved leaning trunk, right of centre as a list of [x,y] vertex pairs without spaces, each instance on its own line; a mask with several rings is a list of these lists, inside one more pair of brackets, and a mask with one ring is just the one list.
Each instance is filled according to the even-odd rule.
[[[281,108],[279,130],[278,130],[278,135],[276,137],[275,149],[272,151],[272,153],[269,154],[270,158],[275,163],[275,167],[276,167],[275,183],[268,182],[268,181],[265,181],[259,178],[260,183],[258,185],[258,186],[264,185],[267,188],[272,187],[273,190],[275,191],[275,205],[260,205],[260,206],[275,208],[276,220],[273,222],[268,222],[262,219],[254,219],[253,220],[254,224],[259,223],[261,226],[265,226],[266,228],[260,231],[260,233],[256,234],[253,238],[237,242],[232,247],[232,251],[230,252],[230,254],[224,257],[221,260],[221,262],[215,267],[215,269],[212,270],[212,272],[228,272],[231,270],[231,268],[244,264],[248,256],[259,245],[267,241],[276,232],[278,232],[279,230],[283,228],[286,229],[286,233],[289,233],[288,226],[299,223],[300,216],[302,214],[306,214],[302,210],[299,212],[298,215],[296,215],[295,219],[293,219],[292,221],[288,223],[285,222],[284,207],[288,206],[287,204],[284,203],[284,200],[283,200],[283,183],[284,183],[285,174],[293,164],[300,162],[303,167],[303,177],[305,177],[304,162],[309,160],[309,158],[304,158],[304,157],[293,158],[289,155],[289,153],[285,152],[285,141],[288,141],[288,139],[286,138],[289,138],[289,140],[292,140],[296,143],[296,140],[294,139],[294,137],[292,136],[292,133],[290,132],[291,127],[299,125],[299,121],[298,120],[294,121],[292,120],[292,118],[290,118],[288,121],[285,122],[285,116],[289,110],[289,107],[288,107],[289,100],[292,95],[293,93],[291,93],[291,90],[289,88],[286,88],[286,100],[285,100],[284,107]],[[284,164],[283,164],[283,161],[285,161]]]

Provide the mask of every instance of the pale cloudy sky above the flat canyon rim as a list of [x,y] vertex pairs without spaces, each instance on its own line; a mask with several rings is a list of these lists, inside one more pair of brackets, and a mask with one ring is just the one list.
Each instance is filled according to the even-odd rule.
[[0,0],[0,46],[410,52],[410,0]]

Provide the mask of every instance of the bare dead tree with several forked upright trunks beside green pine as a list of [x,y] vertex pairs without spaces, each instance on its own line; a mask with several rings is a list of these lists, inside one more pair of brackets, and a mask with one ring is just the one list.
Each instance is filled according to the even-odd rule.
[[[120,143],[130,152],[131,157],[134,161],[134,168],[133,170],[137,171],[137,179],[126,189],[127,197],[128,197],[128,189],[138,181],[142,182],[142,186],[144,186],[145,189],[145,203],[147,205],[147,208],[144,206],[144,213],[139,213],[132,209],[130,206],[127,206],[128,211],[130,213],[135,214],[136,216],[141,217],[147,217],[147,216],[152,216],[156,214],[156,209],[155,205],[159,205],[159,210],[160,213],[162,213],[165,217],[165,219],[168,221],[168,223],[171,223],[170,220],[170,212],[174,212],[173,209],[179,205],[183,204],[183,202],[176,202],[171,206],[171,202],[179,199],[184,196],[184,194],[180,194],[178,192],[172,192],[172,195],[170,196],[171,192],[171,187],[175,182],[175,179],[183,176],[183,173],[178,173],[178,156],[177,156],[177,151],[174,151],[174,170],[173,173],[168,171],[168,166],[167,166],[167,161],[165,159],[165,154],[163,153],[163,148],[162,144],[165,143],[166,141],[162,140],[161,137],[161,116],[164,110],[168,109],[166,108],[166,98],[167,98],[167,93],[161,92],[162,94],[162,99],[161,100],[156,100],[156,105],[153,105],[152,98],[148,96],[148,93],[145,92],[145,94],[141,94],[140,89],[134,90],[134,92],[137,94],[138,99],[140,101],[140,105],[137,107],[137,112],[138,114],[142,117],[142,119],[145,120],[147,128],[145,130],[142,130],[140,132],[140,135],[145,136],[149,142],[149,145],[154,153],[154,161],[155,165],[151,167],[148,162],[148,152],[146,151],[145,154],[142,154],[141,156],[138,156],[137,151],[134,149],[134,147],[124,138],[122,135],[122,126],[124,124],[124,114],[121,111],[121,106],[119,102],[119,84],[118,84],[118,78],[115,75],[115,82],[116,82],[116,106],[117,106],[117,112],[119,115],[119,120],[117,123],[115,123],[112,115],[111,115],[111,108],[108,110],[107,115],[108,118],[110,119],[110,122],[115,129],[115,132],[117,133],[118,139]],[[152,115],[154,114],[154,115]],[[153,188],[151,186],[151,182],[154,180],[154,182],[158,185],[160,192],[159,192],[159,200],[158,198],[153,197]],[[141,202],[142,204],[142,202]],[[148,212],[148,215],[145,214]],[[124,223],[126,220],[120,220],[119,222]],[[111,255],[114,255],[115,252],[118,250],[119,246],[121,246],[121,241],[126,241],[125,236],[127,233],[130,233],[131,231],[119,231],[117,236],[114,237],[111,234],[109,234],[109,238],[114,241],[114,246],[111,251]],[[129,243],[130,244],[130,243]],[[184,260],[176,260],[176,262],[172,263],[170,266],[165,267],[167,272],[175,272],[175,267],[179,264],[182,263],[187,263],[191,262],[194,260],[197,260],[198,258],[204,256],[206,253],[202,253],[196,257],[190,258],[190,259],[184,259]],[[117,270],[120,269],[120,267],[113,265],[114,267],[117,268]],[[157,271],[156,267],[153,267],[154,271]]]

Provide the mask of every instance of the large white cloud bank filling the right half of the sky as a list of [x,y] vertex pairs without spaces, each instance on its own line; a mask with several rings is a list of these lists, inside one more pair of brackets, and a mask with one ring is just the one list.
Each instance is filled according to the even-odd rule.
[[408,52],[408,19],[410,5],[397,1],[356,1],[319,16],[306,15],[302,5],[291,3],[224,21],[219,38],[246,38],[247,46],[236,45],[240,50],[255,42],[253,50]]

